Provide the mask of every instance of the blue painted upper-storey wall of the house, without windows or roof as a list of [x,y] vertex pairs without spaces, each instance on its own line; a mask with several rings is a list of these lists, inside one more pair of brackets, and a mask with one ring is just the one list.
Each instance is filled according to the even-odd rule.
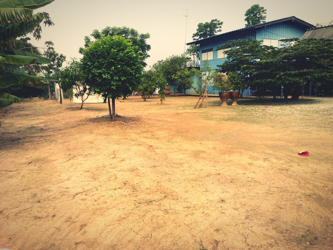
[[[215,51],[219,46],[227,43],[229,40],[245,39],[246,37],[252,37],[258,41],[262,39],[286,39],[286,38],[301,38],[306,31],[306,28],[300,27],[299,24],[295,22],[281,22],[276,24],[270,24],[264,27],[250,30],[240,30],[234,31],[232,33],[226,33],[221,36],[212,37],[210,39],[200,42],[200,58],[202,58],[202,50],[213,48],[213,59],[208,60],[209,67],[212,70],[218,69],[216,65],[223,64],[226,58],[217,59],[217,51]],[[282,46],[281,41],[279,41],[279,47]],[[203,67],[203,62],[200,60],[200,67]]]

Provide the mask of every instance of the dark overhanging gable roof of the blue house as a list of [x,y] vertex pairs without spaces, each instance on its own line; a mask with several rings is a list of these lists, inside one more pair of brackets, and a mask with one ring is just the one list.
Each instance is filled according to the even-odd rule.
[[248,27],[245,27],[245,28],[241,28],[241,29],[237,29],[237,30],[233,30],[233,31],[228,31],[228,32],[225,32],[225,33],[222,33],[222,34],[218,34],[218,35],[214,35],[214,36],[210,36],[210,37],[207,37],[207,38],[202,38],[200,40],[197,40],[197,41],[193,41],[193,42],[189,42],[189,43],[186,43],[186,45],[191,45],[191,44],[199,44],[201,41],[203,40],[206,40],[206,39],[210,39],[212,37],[218,37],[218,36],[223,36],[225,34],[229,34],[229,33],[233,33],[233,32],[237,32],[237,31],[241,31],[241,30],[248,30],[248,29],[257,29],[257,28],[260,28],[260,27],[264,27],[266,25],[271,25],[271,24],[275,24],[275,23],[281,23],[281,22],[286,22],[286,21],[294,21],[294,22],[297,22],[298,24],[300,24],[301,26],[307,28],[307,29],[313,29],[313,28],[316,28],[316,26],[310,24],[310,23],[307,23],[295,16],[290,16],[290,17],[285,17],[285,18],[281,18],[281,19],[277,19],[277,20],[273,20],[273,21],[269,21],[269,22],[265,22],[265,23],[259,23],[259,24],[255,24],[255,25],[251,25],[251,26],[248,26]]

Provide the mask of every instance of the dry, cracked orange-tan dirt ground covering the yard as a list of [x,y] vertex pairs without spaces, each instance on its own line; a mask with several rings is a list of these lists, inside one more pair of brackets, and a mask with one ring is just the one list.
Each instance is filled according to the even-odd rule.
[[4,108],[0,249],[332,250],[333,98],[197,99]]

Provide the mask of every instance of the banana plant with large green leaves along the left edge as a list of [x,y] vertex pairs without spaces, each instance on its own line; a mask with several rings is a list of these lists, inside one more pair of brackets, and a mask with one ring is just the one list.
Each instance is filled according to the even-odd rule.
[[[0,1],[0,89],[24,83],[31,86],[47,86],[39,76],[31,75],[40,71],[41,64],[50,64],[51,60],[41,56],[38,49],[27,42],[28,39],[16,39],[33,33],[35,39],[41,38],[41,26],[52,26],[49,14],[34,14],[33,10],[43,7],[54,0],[3,0]],[[14,65],[28,67],[26,74]],[[14,66],[14,68],[13,68]],[[0,92],[0,107],[5,107],[21,99]]]

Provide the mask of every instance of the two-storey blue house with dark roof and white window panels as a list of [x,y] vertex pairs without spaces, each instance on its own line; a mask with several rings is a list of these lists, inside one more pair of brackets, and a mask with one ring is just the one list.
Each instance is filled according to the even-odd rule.
[[[299,38],[301,39],[308,29],[316,28],[316,26],[307,23],[295,16],[286,17],[266,23],[260,23],[238,30],[229,31],[223,34],[211,36],[198,41],[186,43],[186,45],[200,45],[200,67],[203,66],[203,60],[208,60],[209,67],[212,70],[218,69],[217,65],[223,64],[226,58],[225,50],[233,49],[226,48],[224,50],[216,49],[229,40],[245,39],[252,37],[258,41],[262,41],[263,45],[272,45],[277,48],[282,47],[281,39]],[[213,90],[211,86],[207,88],[208,93],[217,94],[218,91]],[[187,93],[194,91],[188,90]]]

